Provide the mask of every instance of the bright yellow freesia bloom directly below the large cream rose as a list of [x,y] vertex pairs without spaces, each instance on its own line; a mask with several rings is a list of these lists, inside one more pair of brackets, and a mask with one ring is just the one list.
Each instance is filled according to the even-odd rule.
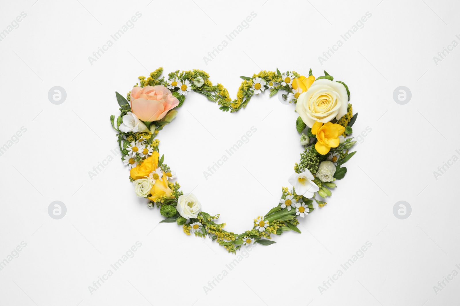
[[339,146],[339,136],[345,132],[345,128],[337,123],[315,122],[311,127],[311,134],[316,135],[318,141],[315,144],[315,149],[319,154],[328,154],[331,148]]

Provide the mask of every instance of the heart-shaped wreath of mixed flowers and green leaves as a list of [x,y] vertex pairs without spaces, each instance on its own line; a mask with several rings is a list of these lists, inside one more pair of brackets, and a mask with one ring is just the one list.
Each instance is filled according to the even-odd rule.
[[[322,199],[331,195],[334,181],[345,176],[346,167],[342,165],[356,153],[348,152],[356,143],[346,137],[352,133],[357,113],[353,115],[348,103],[350,91],[345,83],[334,81],[327,72],[315,78],[311,69],[308,77],[295,71],[261,71],[252,78],[241,77],[244,81],[236,100],[232,100],[228,90],[222,84],[213,85],[204,71],[178,70],[169,73],[168,79],[160,78],[162,72],[159,68],[148,78],[139,77],[140,85],[131,89],[127,99],[115,92],[121,114],[116,121],[110,116],[110,121],[118,133],[122,160],[130,168],[136,195],[150,200],[149,208],[160,208],[166,218],[161,222],[177,223],[188,235],[209,236],[232,253],[242,245],[275,243],[270,240],[271,234],[290,230],[300,233],[298,218],[315,209],[313,201],[318,207],[326,204],[316,199],[316,194]],[[192,90],[217,102],[222,111],[234,112],[266,89],[270,89],[270,97],[278,95],[283,103],[295,104],[299,113],[295,125],[305,150],[288,178],[290,187],[282,187],[278,205],[254,219],[253,228],[235,234],[224,230],[225,223],[215,222],[219,214],[202,211],[195,195],[179,190],[175,172],[164,163],[164,155],[160,157],[160,140],[155,136],[176,117]]]

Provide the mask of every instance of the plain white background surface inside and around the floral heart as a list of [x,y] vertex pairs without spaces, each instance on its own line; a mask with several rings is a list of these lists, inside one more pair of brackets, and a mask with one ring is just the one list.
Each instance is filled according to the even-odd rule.
[[[431,306],[459,299],[460,276],[433,289],[460,272],[459,162],[433,174],[460,157],[460,49],[433,60],[460,42],[458,2],[2,2],[0,31],[21,12],[27,17],[0,41],[0,146],[21,127],[27,131],[0,156],[0,261],[22,241],[27,246],[0,271],[1,305]],[[90,64],[136,12],[142,17],[134,27]],[[251,12],[257,17],[229,42],[225,35]],[[372,17],[321,65],[318,57],[366,12]],[[224,39],[228,46],[206,64],[203,57]],[[351,90],[355,137],[371,132],[328,204],[301,220],[302,234],[276,236],[276,244],[242,257],[227,254],[173,223],[157,226],[158,209],[134,195],[118,157],[96,177],[88,174],[117,148],[109,124],[119,113],[115,90],[125,95],[139,75],[160,66],[164,75],[203,69],[232,97],[239,76],[261,69],[307,75],[313,68],[316,77],[326,70]],[[53,86],[67,93],[61,105],[48,100]],[[406,105],[393,100],[398,86],[412,92]],[[193,189],[204,211],[220,213],[239,233],[276,206],[288,185],[302,151],[296,117],[293,106],[268,95],[230,114],[191,93],[158,135],[161,154],[182,190]],[[203,171],[251,127],[257,132],[249,142],[206,180]],[[54,200],[67,207],[60,220],[47,212]],[[400,200],[412,207],[405,220],[393,215]],[[91,294],[88,286],[136,241],[142,246],[134,257]],[[367,241],[372,246],[344,271],[340,265]],[[339,269],[343,275],[321,292]],[[214,277],[222,280],[205,292]]]

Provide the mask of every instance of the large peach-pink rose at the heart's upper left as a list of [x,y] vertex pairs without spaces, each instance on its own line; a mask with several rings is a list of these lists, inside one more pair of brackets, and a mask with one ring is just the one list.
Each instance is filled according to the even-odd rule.
[[178,106],[179,100],[164,86],[131,89],[131,110],[142,121],[157,121]]

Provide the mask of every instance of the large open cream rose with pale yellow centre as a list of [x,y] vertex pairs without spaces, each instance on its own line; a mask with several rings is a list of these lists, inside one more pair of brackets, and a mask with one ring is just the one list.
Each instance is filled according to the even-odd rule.
[[325,78],[319,79],[297,98],[295,110],[309,128],[318,121],[326,123],[347,113],[345,86]]

